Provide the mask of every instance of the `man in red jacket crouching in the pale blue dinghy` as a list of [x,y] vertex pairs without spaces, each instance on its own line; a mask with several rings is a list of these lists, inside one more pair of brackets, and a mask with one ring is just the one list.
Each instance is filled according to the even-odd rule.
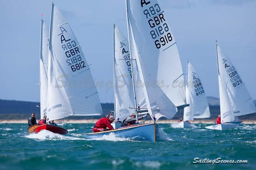
[[[113,130],[113,126],[111,126],[111,123],[114,122],[114,117],[109,116],[109,119],[107,117],[103,117],[100,120],[98,120],[94,127],[93,127],[93,132],[100,132],[100,131],[106,131],[106,130]],[[108,128],[108,129],[106,129]]]

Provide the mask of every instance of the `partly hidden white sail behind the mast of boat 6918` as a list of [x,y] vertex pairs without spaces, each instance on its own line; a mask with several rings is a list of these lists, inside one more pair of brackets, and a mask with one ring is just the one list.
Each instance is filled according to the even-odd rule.
[[132,70],[128,40],[114,25],[114,94],[117,121],[134,112]]

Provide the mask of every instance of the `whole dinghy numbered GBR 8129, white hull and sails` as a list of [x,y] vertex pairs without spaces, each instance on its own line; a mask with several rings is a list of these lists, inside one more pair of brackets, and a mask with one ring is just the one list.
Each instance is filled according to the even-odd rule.
[[237,128],[235,116],[247,115],[256,112],[244,81],[236,67],[216,44],[219,90],[220,90],[220,119],[221,124],[215,125],[215,129],[227,130]]

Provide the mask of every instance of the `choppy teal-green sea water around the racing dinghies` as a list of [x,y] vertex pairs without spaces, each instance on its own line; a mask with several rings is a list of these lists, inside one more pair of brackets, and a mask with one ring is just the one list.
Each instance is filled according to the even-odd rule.
[[[64,126],[68,135],[28,134],[26,124],[0,124],[0,169],[256,169],[255,124],[226,131],[159,124],[157,142],[114,134],[86,139],[93,124]],[[196,157],[248,163],[193,164]]]

